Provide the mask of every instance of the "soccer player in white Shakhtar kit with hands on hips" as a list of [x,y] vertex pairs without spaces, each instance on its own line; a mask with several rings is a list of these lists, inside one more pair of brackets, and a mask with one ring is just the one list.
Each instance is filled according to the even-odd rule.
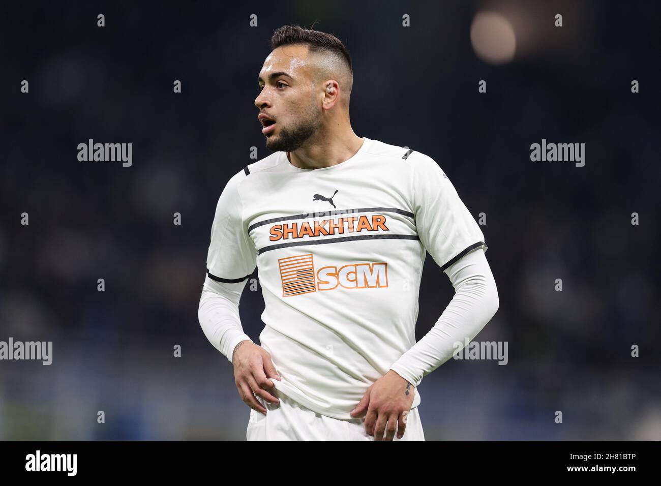
[[[271,42],[254,104],[274,153],[219,197],[200,325],[252,408],[248,440],[424,440],[416,387],[498,309],[485,238],[434,159],[354,134],[338,38]],[[416,343],[427,251],[455,295]],[[255,267],[260,345],[239,319]]]

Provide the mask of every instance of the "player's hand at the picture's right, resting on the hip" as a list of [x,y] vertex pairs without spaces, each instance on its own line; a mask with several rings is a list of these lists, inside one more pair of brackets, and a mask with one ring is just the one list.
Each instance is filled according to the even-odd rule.
[[[395,430],[401,439],[407,426],[407,415],[413,404],[415,388],[393,370],[370,385],[355,409],[354,419],[366,417],[365,430],[374,440],[393,440]],[[398,426],[399,425],[399,426]]]

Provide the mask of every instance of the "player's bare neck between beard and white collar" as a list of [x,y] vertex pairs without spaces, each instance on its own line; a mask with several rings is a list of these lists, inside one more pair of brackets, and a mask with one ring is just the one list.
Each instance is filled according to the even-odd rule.
[[356,136],[351,127],[340,134],[328,134],[319,130],[300,148],[288,152],[287,157],[292,165],[299,169],[321,169],[350,159],[356,155],[363,143],[363,139]]

